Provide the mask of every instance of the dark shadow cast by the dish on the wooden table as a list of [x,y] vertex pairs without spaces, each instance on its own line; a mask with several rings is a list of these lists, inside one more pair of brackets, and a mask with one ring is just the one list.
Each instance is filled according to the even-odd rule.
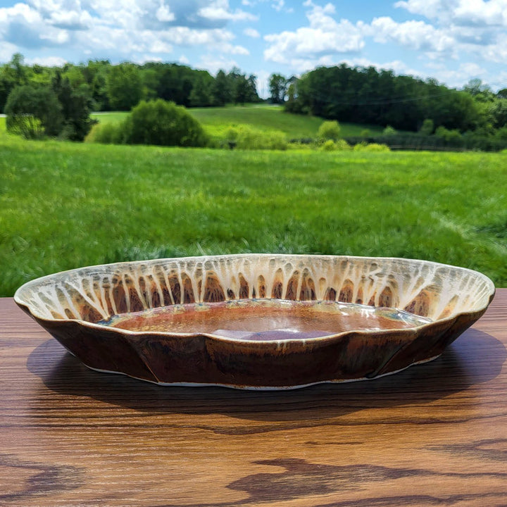
[[[368,408],[424,405],[499,375],[507,351],[470,329],[434,361],[394,375],[284,391],[167,387],[89,370],[51,339],[30,354],[27,368],[58,394],[88,396],[141,413],[218,413],[258,422],[323,420]],[[259,427],[258,430],[261,430]]]

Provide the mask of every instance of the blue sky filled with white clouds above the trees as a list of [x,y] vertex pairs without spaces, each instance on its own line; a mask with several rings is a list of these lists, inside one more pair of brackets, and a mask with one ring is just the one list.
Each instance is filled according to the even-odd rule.
[[507,0],[0,0],[0,63],[108,59],[300,76],[320,65],[507,88]]

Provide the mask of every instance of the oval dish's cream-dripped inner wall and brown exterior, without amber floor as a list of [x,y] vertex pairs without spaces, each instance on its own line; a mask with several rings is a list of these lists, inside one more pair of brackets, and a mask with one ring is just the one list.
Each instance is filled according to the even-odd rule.
[[[287,389],[371,379],[430,361],[493,296],[494,284],[481,273],[428,261],[245,254],[70,270],[27,282],[14,298],[89,368],[159,384]],[[146,308],[256,298],[392,307],[432,322],[270,342],[97,324]]]

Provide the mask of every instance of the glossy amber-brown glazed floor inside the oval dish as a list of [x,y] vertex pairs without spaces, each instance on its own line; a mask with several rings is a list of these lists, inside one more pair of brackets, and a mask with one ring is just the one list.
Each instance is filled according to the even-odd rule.
[[99,324],[136,332],[208,333],[253,340],[310,339],[354,330],[408,329],[429,323],[395,308],[330,301],[240,300],[168,306],[115,315]]

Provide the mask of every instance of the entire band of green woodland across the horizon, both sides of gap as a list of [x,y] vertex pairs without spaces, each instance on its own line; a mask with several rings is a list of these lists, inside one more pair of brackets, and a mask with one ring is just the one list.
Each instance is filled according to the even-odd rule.
[[[269,89],[267,100],[284,104],[288,113],[380,125],[386,134],[398,136],[398,144],[414,144],[411,134],[432,136],[436,146],[442,139],[472,149],[501,149],[507,144],[507,89],[493,92],[477,79],[458,90],[434,79],[342,64],[316,68],[299,78],[273,74]],[[44,67],[25,65],[20,54],[0,65],[0,112],[31,113],[45,125],[46,134],[63,139],[84,139],[92,111],[130,111],[140,101],[156,99],[187,108],[262,100],[256,75],[239,68],[213,76],[187,65],[159,62]]]

